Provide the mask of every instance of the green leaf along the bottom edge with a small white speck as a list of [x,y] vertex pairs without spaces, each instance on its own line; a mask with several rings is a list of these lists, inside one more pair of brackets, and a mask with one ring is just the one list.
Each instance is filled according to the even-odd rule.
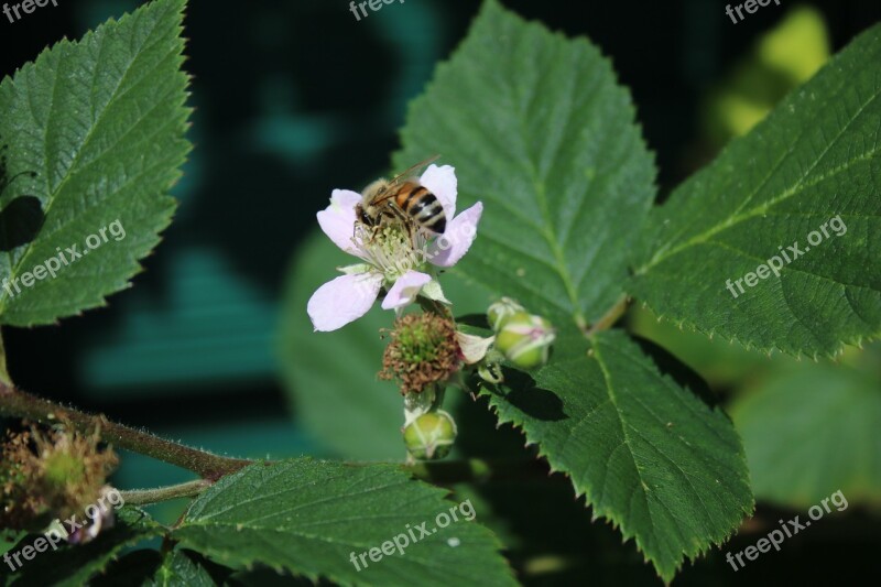
[[[475,577],[482,585],[515,585],[487,529],[463,513],[439,528],[437,518],[457,508],[444,494],[392,465],[257,464],[199,496],[174,537],[225,565],[263,563],[342,585],[440,586]],[[410,541],[403,555],[395,550],[378,562],[367,558],[360,570],[352,564],[352,556],[422,523],[429,535],[414,531],[421,540]]]

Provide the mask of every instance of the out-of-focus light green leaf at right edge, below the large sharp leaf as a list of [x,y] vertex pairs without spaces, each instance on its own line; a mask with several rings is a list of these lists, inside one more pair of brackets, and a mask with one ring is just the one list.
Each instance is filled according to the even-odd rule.
[[872,374],[803,362],[738,396],[731,417],[758,499],[805,510],[841,490],[881,504],[877,370],[877,356]]

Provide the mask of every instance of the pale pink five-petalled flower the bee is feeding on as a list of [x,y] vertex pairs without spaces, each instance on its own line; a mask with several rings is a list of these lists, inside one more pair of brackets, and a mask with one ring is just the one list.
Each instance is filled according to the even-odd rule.
[[477,236],[483,205],[478,202],[455,216],[457,182],[449,165],[429,165],[420,183],[440,202],[447,226],[437,238],[418,231],[415,243],[403,226],[390,224],[376,233],[363,227],[355,214],[361,195],[348,189],[334,191],[330,205],[318,213],[318,224],[337,247],[362,262],[342,268],[344,275],[325,283],[312,295],[307,311],[316,330],[336,330],[360,318],[383,286],[389,292],[382,301],[385,309],[403,308],[421,292],[446,302],[431,265],[453,267],[468,252]]

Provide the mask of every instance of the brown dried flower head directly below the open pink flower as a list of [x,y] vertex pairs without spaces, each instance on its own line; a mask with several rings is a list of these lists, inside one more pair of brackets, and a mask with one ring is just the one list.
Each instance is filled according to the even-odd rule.
[[459,368],[461,352],[453,322],[436,314],[409,314],[394,323],[380,379],[396,379],[401,393],[422,393]]

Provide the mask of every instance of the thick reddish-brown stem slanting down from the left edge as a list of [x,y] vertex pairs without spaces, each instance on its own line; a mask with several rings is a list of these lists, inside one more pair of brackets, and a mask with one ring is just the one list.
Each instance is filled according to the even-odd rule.
[[119,448],[188,469],[208,481],[216,481],[252,463],[251,460],[221,457],[173,443],[146,432],[110,422],[102,415],[87,414],[36,398],[2,382],[0,382],[0,416],[21,417],[43,424],[65,422],[84,434],[94,433],[97,428],[101,439]]

